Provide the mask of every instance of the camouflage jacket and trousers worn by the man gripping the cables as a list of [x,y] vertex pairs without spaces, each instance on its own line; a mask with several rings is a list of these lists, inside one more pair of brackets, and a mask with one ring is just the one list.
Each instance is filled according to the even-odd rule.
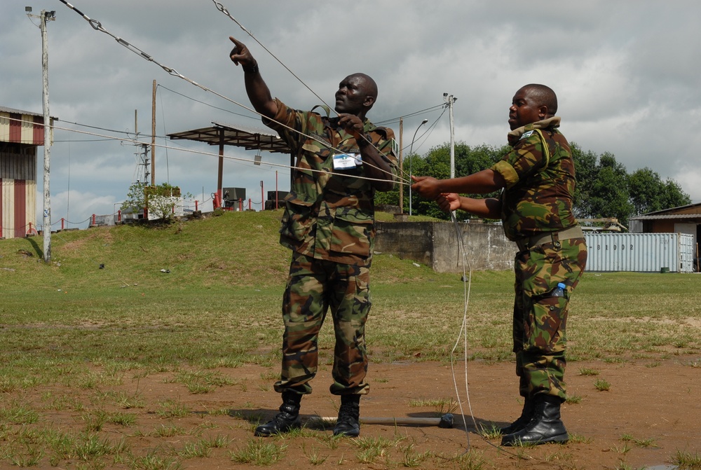
[[[567,311],[587,262],[587,245],[581,236],[558,235],[577,221],[572,214],[572,153],[557,127],[559,118],[550,118],[510,132],[512,151],[492,170],[506,181],[501,195],[504,233],[520,248],[514,263],[513,318],[519,392],[564,400]],[[547,234],[546,241],[529,243]],[[559,282],[567,286],[565,296],[552,297]]]

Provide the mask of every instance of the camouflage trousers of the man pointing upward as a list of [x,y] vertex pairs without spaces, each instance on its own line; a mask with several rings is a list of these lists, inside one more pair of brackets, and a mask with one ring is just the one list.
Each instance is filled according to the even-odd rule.
[[275,391],[311,393],[318,368],[319,331],[331,310],[336,336],[334,395],[367,394],[365,321],[370,310],[369,265],[292,255],[283,296],[283,366]]

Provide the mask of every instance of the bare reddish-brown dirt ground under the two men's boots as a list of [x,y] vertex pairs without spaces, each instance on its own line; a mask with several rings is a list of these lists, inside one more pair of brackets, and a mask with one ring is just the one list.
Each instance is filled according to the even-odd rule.
[[[583,368],[595,369],[599,375],[581,375]],[[454,367],[458,390],[465,395],[465,368]],[[548,444],[532,448],[499,448],[499,439],[489,441],[475,433],[468,403],[463,402],[467,432],[460,410],[454,411],[454,427],[393,426],[363,424],[359,439],[330,439],[329,429],[316,426],[294,436],[254,438],[252,429],[258,417],[274,415],[280,396],[270,388],[269,369],[243,366],[219,371],[238,381],[238,385],[217,387],[207,394],[191,394],[181,383],[172,382],[172,373],[158,373],[136,380],[125,378],[116,387],[132,395],[138,387],[143,408],[121,410],[136,413],[137,422],[130,427],[105,424],[102,436],[110,440],[125,438],[135,455],[147,455],[165,448],[183,449],[196,437],[191,430],[200,429],[200,437],[226,435],[229,443],[213,448],[209,457],[182,459],[186,469],[673,469],[677,452],[701,455],[701,404],[699,368],[674,359],[639,361],[627,364],[576,362],[568,366],[569,394],[579,396],[579,403],[564,404],[562,416],[573,441],[565,445]],[[477,424],[506,424],[520,412],[513,365],[470,362],[470,407]],[[170,379],[170,380],[169,380]],[[610,389],[600,392],[594,386],[606,380]],[[371,364],[371,392],[361,401],[361,417],[435,417],[433,406],[416,405],[419,400],[441,400],[456,396],[451,367],[430,362]],[[240,384],[245,383],[245,387]],[[313,381],[314,393],[302,401],[305,419],[336,415],[336,400],[329,395],[329,368],[325,367]],[[54,392],[59,392],[55,390]],[[46,392],[43,392],[46,394]],[[46,395],[45,395],[46,396]],[[28,398],[28,397],[27,397]],[[36,399],[39,399],[38,397]],[[156,413],[158,403],[172,399],[192,412],[186,417],[168,418]],[[229,413],[208,413],[228,410]],[[84,429],[79,413],[48,411],[42,413],[44,424],[62,429]],[[178,426],[189,434],[156,437],[154,429]],[[139,431],[137,431],[137,429]],[[245,449],[250,443],[273,443],[285,446],[283,458],[264,467],[233,462],[231,452]],[[364,453],[364,445],[388,443],[376,457]],[[170,447],[172,446],[172,447]],[[452,457],[470,450],[472,463]],[[167,452],[166,452],[167,453]],[[440,455],[442,457],[436,457]],[[479,463],[482,466],[479,466]],[[6,460],[0,462],[5,468]],[[50,466],[43,459],[34,468],[83,468],[79,462],[62,461]],[[117,465],[114,468],[128,468]],[[15,467],[16,468],[16,467]],[[87,468],[87,467],[86,467]],[[107,464],[107,468],[113,468]],[[158,468],[158,467],[154,467]]]

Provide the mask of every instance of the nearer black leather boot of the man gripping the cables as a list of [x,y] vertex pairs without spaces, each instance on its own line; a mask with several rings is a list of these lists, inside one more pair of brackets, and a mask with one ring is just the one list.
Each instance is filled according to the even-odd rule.
[[533,417],[524,429],[508,434],[501,439],[501,445],[545,444],[547,442],[565,443],[569,435],[560,420],[560,403],[557,396],[538,394],[535,401]]

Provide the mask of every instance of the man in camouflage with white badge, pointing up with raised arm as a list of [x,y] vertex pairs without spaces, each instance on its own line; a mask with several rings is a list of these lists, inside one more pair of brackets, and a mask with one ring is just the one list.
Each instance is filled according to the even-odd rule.
[[358,436],[360,396],[369,392],[365,322],[371,305],[374,193],[394,186],[394,134],[365,118],[377,97],[369,76],[341,81],[337,117],[294,110],[271,97],[250,51],[231,41],[231,60],[243,68],[251,103],[296,157],[280,228],[280,243],[292,249],[283,296],[282,373],[274,385],[283,405],[255,434],[270,436],[299,425],[301,396],[311,393],[318,334],[330,309],[336,334],[331,393],[341,396],[334,435]]

